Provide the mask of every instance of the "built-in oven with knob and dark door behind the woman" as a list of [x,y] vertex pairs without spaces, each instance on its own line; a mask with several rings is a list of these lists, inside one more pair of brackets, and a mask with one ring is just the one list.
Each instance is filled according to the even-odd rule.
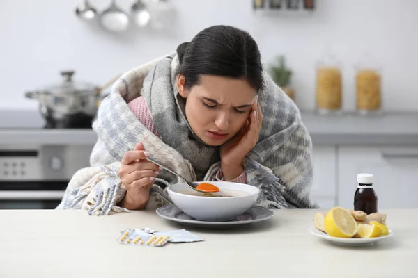
[[54,209],[91,145],[0,145],[0,209]]

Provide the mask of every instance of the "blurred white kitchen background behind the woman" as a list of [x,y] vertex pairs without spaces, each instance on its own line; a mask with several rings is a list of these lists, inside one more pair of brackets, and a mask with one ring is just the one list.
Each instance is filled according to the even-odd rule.
[[[87,6],[86,6],[87,3]],[[203,28],[249,31],[314,142],[312,197],[418,208],[418,1],[17,0],[0,3],[0,208],[54,208],[111,83]],[[86,92],[75,97],[75,92]]]

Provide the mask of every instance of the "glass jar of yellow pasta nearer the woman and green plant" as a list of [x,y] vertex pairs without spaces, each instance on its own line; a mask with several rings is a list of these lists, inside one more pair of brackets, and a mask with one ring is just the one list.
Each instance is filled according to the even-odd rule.
[[316,109],[320,114],[339,113],[342,106],[341,64],[327,55],[316,67]]

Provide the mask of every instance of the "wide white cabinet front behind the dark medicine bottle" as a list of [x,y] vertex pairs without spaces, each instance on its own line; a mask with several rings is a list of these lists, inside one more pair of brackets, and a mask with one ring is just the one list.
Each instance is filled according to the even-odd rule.
[[357,174],[374,175],[378,210],[418,208],[417,147],[345,147],[337,149],[337,205],[353,207]]

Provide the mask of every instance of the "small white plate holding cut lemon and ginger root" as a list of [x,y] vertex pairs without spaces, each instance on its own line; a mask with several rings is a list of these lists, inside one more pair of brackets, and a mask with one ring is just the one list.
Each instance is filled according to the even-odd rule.
[[393,235],[386,225],[386,215],[352,211],[341,207],[314,215],[311,234],[338,245],[367,245]]

